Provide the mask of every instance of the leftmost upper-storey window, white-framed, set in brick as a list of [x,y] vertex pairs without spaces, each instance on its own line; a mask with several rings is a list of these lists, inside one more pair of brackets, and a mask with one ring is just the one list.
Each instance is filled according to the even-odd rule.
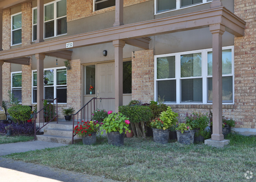
[[21,44],[21,13],[11,15],[11,45]]

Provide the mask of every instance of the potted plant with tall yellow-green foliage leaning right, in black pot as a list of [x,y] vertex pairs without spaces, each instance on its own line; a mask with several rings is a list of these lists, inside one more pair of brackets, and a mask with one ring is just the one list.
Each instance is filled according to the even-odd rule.
[[170,128],[177,122],[178,113],[174,113],[171,107],[160,114],[159,118],[152,120],[154,142],[166,144],[169,141]]

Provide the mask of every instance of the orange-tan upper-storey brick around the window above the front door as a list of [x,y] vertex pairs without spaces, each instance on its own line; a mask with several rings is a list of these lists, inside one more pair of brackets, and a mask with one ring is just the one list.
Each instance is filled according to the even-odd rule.
[[[151,0],[124,0],[124,7],[147,2]],[[67,22],[85,18],[87,16],[113,11],[115,6],[93,11],[93,0],[69,0],[67,1]]]

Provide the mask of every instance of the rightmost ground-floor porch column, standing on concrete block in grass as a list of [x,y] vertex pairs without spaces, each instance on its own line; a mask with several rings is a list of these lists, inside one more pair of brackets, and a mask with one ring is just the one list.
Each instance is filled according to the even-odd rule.
[[221,24],[210,25],[212,33],[212,113],[213,133],[211,140],[221,141],[222,134],[222,35],[225,26]]

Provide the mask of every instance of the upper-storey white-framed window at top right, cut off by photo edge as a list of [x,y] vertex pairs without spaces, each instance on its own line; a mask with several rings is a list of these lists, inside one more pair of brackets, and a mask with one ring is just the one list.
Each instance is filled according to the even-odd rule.
[[155,0],[155,14],[204,4],[212,0]]

